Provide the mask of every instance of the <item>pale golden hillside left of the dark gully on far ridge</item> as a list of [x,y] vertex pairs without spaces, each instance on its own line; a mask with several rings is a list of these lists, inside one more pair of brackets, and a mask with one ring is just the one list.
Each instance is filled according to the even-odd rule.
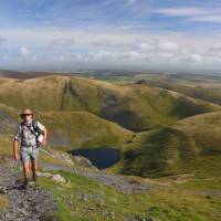
[[31,80],[0,78],[0,102],[18,109],[57,110],[61,107],[65,77]]

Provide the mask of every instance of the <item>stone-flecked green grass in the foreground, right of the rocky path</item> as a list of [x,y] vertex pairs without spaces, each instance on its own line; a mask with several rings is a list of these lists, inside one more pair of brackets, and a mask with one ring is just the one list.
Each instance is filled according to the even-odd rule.
[[147,192],[128,194],[85,177],[57,172],[69,183],[42,178],[41,186],[53,193],[62,221],[218,221],[221,217],[221,201],[217,196],[207,198],[183,188],[158,188],[157,185]]

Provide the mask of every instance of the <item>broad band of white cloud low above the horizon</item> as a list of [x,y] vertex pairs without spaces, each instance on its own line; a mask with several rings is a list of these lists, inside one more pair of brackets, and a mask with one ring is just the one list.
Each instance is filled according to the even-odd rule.
[[[54,66],[219,66],[221,69],[220,36],[188,35],[182,33],[114,32],[113,30],[4,30],[8,42],[18,45],[20,54],[34,64]],[[56,36],[56,39],[54,39]],[[56,41],[54,51],[49,45]],[[67,40],[67,41],[64,41]],[[69,40],[72,40],[71,42]],[[212,40],[212,41],[211,41]],[[27,44],[24,44],[24,42]],[[28,46],[32,45],[32,50]],[[69,45],[72,45],[71,48]],[[39,56],[38,54],[42,55]],[[14,53],[15,54],[15,53]],[[7,61],[17,61],[7,54]],[[22,62],[22,61],[21,61]],[[14,62],[15,63],[15,62]],[[86,65],[84,64],[86,63]],[[96,64],[96,65],[95,65]],[[23,64],[25,65],[25,64]],[[36,65],[41,66],[41,65]]]

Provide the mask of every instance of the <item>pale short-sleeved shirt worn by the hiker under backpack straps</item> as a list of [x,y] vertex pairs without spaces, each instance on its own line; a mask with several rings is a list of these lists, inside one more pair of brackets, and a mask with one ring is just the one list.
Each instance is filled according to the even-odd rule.
[[[30,120],[29,123],[22,122],[22,124],[20,124],[17,128],[14,139],[21,141],[22,147],[36,146],[36,136],[32,133],[34,131],[32,120]],[[32,131],[30,131],[30,129],[25,125],[28,125]],[[42,125],[38,120],[36,127],[40,131],[44,130],[44,125]]]

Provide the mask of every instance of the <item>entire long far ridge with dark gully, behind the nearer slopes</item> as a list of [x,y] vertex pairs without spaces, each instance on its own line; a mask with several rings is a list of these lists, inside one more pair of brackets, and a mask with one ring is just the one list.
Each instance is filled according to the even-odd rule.
[[87,110],[130,130],[159,128],[220,106],[147,85],[69,76],[0,78],[0,102],[21,109]]

